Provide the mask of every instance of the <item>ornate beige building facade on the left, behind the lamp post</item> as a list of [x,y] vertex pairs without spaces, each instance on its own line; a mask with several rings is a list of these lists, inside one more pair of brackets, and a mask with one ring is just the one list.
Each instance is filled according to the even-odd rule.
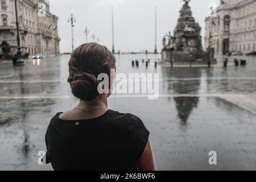
[[[0,2],[0,44],[6,41],[11,47],[11,52],[15,53],[17,48],[15,1],[0,0]],[[58,55],[60,53],[58,18],[50,13],[49,3],[44,0],[17,0],[17,11],[22,53]]]

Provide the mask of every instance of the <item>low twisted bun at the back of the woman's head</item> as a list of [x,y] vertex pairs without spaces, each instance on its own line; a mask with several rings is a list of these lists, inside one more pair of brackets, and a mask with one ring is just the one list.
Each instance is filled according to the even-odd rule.
[[96,76],[90,73],[76,74],[70,82],[73,95],[83,101],[94,100],[100,95],[98,84]]

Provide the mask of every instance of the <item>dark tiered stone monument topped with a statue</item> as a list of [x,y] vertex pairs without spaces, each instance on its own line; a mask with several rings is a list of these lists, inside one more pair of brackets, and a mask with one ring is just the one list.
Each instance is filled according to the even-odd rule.
[[[163,38],[162,62],[177,64],[214,63],[214,49],[203,51],[201,43],[201,27],[192,16],[190,0],[184,0],[180,10],[180,17],[174,30],[174,35],[169,32]],[[168,44],[166,44],[168,37]]]

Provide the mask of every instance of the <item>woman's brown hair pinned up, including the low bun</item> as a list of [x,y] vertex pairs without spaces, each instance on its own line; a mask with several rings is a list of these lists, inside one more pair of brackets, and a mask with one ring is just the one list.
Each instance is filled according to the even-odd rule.
[[69,60],[68,82],[73,95],[84,101],[94,100],[100,95],[98,75],[106,73],[110,79],[110,69],[115,69],[115,57],[105,46],[87,43],[76,48]]

